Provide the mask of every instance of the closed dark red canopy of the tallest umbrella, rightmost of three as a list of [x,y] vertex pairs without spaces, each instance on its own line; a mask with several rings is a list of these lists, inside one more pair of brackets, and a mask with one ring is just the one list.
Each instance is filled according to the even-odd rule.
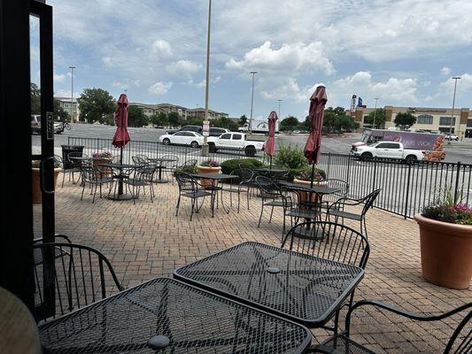
[[[317,164],[321,154],[321,128],[323,127],[324,106],[328,101],[326,88],[318,86],[310,97],[310,135],[305,144],[304,153],[310,164]],[[314,155],[314,152],[316,154]],[[314,155],[314,156],[313,156]]]

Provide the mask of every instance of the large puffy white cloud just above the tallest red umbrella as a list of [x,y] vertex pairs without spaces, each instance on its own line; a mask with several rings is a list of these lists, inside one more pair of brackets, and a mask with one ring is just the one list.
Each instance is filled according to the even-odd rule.
[[260,70],[264,73],[334,73],[335,69],[323,53],[322,42],[282,44],[279,49],[272,42],[264,42],[244,54],[244,59],[230,58],[226,63],[230,69]]

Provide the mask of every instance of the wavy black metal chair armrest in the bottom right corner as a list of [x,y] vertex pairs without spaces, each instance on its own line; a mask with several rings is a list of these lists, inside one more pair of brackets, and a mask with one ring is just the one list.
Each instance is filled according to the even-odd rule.
[[366,306],[366,305],[375,306],[383,310],[387,310],[388,312],[396,313],[400,316],[406,317],[407,319],[414,319],[414,320],[426,321],[426,322],[439,320],[439,319],[445,319],[447,317],[452,316],[455,313],[464,311],[468,308],[472,308],[472,303],[468,303],[468,304],[463,304],[460,307],[457,307],[449,312],[444,312],[438,315],[424,315],[424,314],[417,314],[413,312],[407,312],[406,310],[401,309],[398,306],[385,304],[378,300],[360,300],[357,303],[353,304],[351,309],[347,312],[346,319],[345,319],[345,328],[348,335],[349,335],[349,327],[351,325],[352,312],[356,310],[357,308],[359,308],[360,306]]

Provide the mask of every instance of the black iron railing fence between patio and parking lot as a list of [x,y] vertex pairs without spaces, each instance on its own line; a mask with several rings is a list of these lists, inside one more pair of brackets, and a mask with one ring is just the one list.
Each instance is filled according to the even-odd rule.
[[[112,147],[112,139],[69,137],[70,145],[81,145],[90,156],[97,151],[111,151],[120,154],[120,149]],[[167,154],[177,156],[179,163],[201,157],[201,149],[188,146],[164,145],[160,142],[132,141],[123,150],[123,160],[132,163],[132,156],[143,154],[149,158]],[[256,156],[248,157],[244,150],[218,150],[208,158],[219,162],[231,158],[258,158],[268,163],[267,156],[258,151]],[[412,218],[422,212],[425,205],[433,203],[437,197],[451,193],[455,198],[468,204],[471,194],[472,165],[460,163],[417,161],[406,164],[399,160],[371,159],[360,161],[352,155],[323,153],[318,164],[328,178],[347,181],[350,196],[359,198],[375,189],[382,189],[375,200],[375,207],[388,212]]]

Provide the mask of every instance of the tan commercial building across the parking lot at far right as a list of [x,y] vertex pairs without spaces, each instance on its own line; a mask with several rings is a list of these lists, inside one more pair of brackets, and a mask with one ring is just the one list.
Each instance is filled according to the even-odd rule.
[[[360,127],[371,127],[364,124],[364,119],[369,113],[374,112],[374,108],[357,107],[354,120],[360,123]],[[448,134],[451,129],[455,135],[462,137],[472,137],[472,111],[468,108],[434,108],[434,107],[396,107],[386,105],[385,128],[395,127],[395,117],[398,113],[411,113],[416,117],[416,123],[411,127],[417,130],[438,131]],[[350,114],[351,111],[347,111]],[[377,127],[375,125],[375,127]]]

